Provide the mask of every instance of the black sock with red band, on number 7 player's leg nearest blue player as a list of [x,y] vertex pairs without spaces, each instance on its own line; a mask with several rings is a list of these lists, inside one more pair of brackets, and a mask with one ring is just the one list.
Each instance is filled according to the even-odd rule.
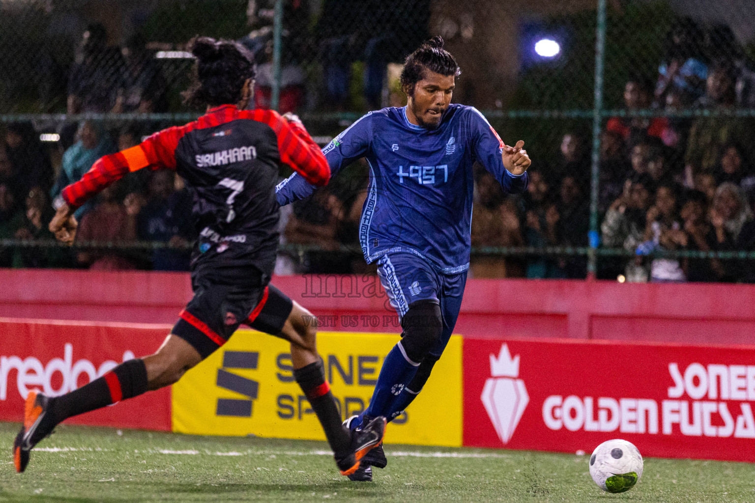
[[341,425],[341,413],[325,380],[322,360],[294,369],[294,379],[307,395],[307,400],[310,400],[333,452],[336,455],[347,453],[351,446],[351,437]]

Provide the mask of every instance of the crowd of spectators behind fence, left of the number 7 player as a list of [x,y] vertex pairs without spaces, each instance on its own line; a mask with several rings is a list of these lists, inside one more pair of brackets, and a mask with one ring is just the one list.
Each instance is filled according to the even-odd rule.
[[[168,84],[143,39],[134,35],[116,48],[108,44],[102,25],[85,29],[68,75],[67,112],[165,112],[167,95]],[[63,188],[81,179],[98,158],[137,145],[155,129],[143,122],[64,123],[59,142],[42,143],[31,122],[8,124],[0,136],[0,239],[52,241],[52,201]],[[77,239],[111,244],[152,241],[168,247],[0,246],[0,267],[187,270],[186,245],[196,238],[190,213],[190,195],[174,172],[130,173],[75,212]]]

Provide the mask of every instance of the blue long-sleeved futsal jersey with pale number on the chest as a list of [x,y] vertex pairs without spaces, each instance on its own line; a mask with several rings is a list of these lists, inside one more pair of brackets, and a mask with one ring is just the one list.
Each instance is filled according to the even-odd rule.
[[[331,173],[357,158],[370,168],[359,242],[365,260],[388,253],[412,253],[439,272],[469,268],[473,170],[478,161],[505,192],[523,192],[527,174],[513,176],[501,159],[504,143],[472,106],[452,104],[436,129],[408,121],[406,109],[368,112],[322,152]],[[315,190],[294,173],[276,187],[281,205]]]

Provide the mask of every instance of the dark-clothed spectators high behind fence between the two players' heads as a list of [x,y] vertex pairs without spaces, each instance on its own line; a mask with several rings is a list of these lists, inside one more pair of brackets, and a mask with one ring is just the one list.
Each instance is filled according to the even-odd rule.
[[[283,2],[279,110],[302,106],[346,110],[364,100],[369,109],[384,106],[388,63],[401,63],[428,38],[429,0],[322,0],[311,27],[307,0]],[[273,83],[273,0],[249,0],[247,22],[253,29],[240,41],[257,60],[255,104],[270,106]],[[314,58],[313,58],[314,57]],[[307,63],[318,63],[320,88],[307,99]],[[351,94],[355,63],[362,96]],[[304,103],[305,101],[310,103]],[[316,102],[316,103],[311,103]]]

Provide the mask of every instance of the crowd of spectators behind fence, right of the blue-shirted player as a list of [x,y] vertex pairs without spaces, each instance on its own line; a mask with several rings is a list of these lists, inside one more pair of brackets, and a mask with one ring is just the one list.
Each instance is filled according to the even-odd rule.
[[[755,124],[731,113],[755,103],[753,83],[731,30],[719,26],[704,32],[689,19],[670,29],[655,80],[636,76],[626,81],[627,111],[712,113],[627,115],[606,122],[599,156],[599,238],[602,247],[624,249],[630,258],[602,256],[599,278],[755,281],[748,260],[649,257],[655,250],[755,251]],[[589,153],[584,136],[565,133],[558,160],[538,164],[535,158],[527,194],[508,202],[491,198],[489,176],[478,176],[473,244],[586,247]],[[499,202],[491,224],[492,200]],[[502,264],[509,265],[507,275],[520,275],[523,264],[528,278],[586,275],[586,261],[578,255],[473,259],[472,274],[489,277],[489,266],[479,266],[491,260],[501,268],[496,276]]]

